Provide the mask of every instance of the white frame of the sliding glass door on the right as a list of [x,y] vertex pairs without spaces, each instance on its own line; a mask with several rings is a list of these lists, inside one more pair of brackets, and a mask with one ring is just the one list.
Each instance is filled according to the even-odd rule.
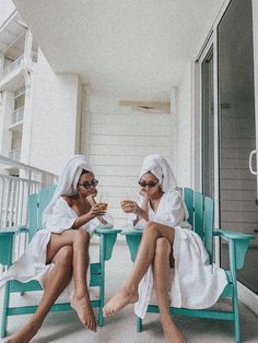
[[[213,47],[213,103],[214,103],[214,224],[220,227],[220,184],[219,184],[219,87],[218,87],[218,25],[224,15],[231,0],[225,0],[221,10],[192,63],[192,175],[194,188],[202,191],[202,91],[201,91],[201,64],[207,54]],[[258,90],[258,2],[253,0],[254,23],[254,73],[255,90]],[[256,146],[258,149],[258,92],[255,92],[255,116],[256,116]],[[220,241],[215,239],[215,263],[220,264]],[[239,298],[256,314],[258,314],[258,295],[237,282]]]

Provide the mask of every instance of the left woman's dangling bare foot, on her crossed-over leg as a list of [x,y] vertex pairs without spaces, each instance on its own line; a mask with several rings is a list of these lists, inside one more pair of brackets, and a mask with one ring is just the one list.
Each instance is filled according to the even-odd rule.
[[82,324],[96,332],[96,319],[90,299],[85,296],[77,297],[74,295],[71,300],[71,307],[77,311]]

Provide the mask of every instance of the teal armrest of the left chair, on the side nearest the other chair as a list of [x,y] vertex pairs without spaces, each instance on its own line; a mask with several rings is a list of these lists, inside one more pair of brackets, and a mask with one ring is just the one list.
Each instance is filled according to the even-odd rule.
[[114,245],[117,239],[117,234],[120,233],[121,229],[116,228],[101,228],[97,227],[95,229],[95,234],[99,236],[101,239],[101,261],[107,261],[112,258],[112,252]]

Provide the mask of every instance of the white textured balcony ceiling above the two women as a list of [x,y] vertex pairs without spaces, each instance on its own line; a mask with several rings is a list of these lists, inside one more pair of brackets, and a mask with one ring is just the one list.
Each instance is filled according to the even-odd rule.
[[56,72],[93,94],[168,99],[223,0],[13,0]]

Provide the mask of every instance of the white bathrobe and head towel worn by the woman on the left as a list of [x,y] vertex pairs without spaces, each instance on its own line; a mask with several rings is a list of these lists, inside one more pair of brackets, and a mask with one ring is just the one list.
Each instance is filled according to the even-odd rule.
[[[44,287],[44,279],[54,265],[54,263],[46,264],[47,245],[51,233],[61,234],[63,230],[71,228],[78,217],[77,213],[61,196],[75,193],[82,169],[92,172],[84,156],[77,155],[67,163],[58,180],[52,201],[43,213],[44,228],[34,235],[25,252],[3,273],[3,276],[0,279],[0,286],[8,280],[21,282],[37,280]],[[106,224],[102,224],[98,218],[93,218],[82,225],[81,228],[92,236],[96,227],[113,227],[113,217],[109,214],[106,213],[104,220]],[[68,288],[70,291],[67,293],[70,295],[71,286]]]

